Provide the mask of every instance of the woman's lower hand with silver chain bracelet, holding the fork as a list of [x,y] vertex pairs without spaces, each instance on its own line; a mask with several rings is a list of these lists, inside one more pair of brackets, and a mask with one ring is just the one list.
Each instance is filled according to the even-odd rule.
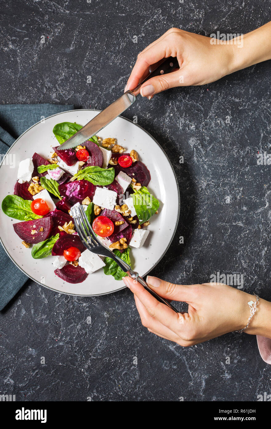
[[[187,313],[175,313],[158,302],[132,278],[123,277],[123,281],[135,296],[143,326],[150,332],[184,347],[244,328],[250,316],[248,302],[256,300],[254,295],[222,283],[187,286],[148,276],[148,285],[160,296],[189,304]],[[245,332],[268,336],[268,333],[271,334],[270,327],[259,325],[266,324],[263,320],[265,317],[270,320],[270,316],[271,303],[260,299],[256,313]]]

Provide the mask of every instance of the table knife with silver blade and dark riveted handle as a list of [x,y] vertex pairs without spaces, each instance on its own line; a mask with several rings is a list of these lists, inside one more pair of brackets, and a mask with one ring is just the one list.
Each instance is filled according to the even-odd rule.
[[170,73],[173,69],[179,68],[178,60],[176,57],[169,57],[162,64],[160,64],[152,73],[150,73],[143,82],[141,82],[132,91],[126,91],[120,98],[118,98],[110,106],[106,107],[102,112],[98,113],[91,121],[89,121],[81,130],[77,131],[72,137],[66,140],[65,143],[58,146],[58,150],[65,150],[75,148],[84,143],[87,139],[99,133],[106,125],[114,121],[121,113],[135,102],[137,95],[140,92],[140,87],[148,79],[154,76],[160,76]]

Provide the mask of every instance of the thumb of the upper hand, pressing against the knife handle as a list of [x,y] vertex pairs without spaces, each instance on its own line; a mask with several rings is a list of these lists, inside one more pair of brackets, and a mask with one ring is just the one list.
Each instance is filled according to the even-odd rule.
[[147,82],[142,84],[140,94],[142,97],[150,97],[154,94],[166,91],[166,89],[182,85],[184,85],[184,76],[183,73],[178,70],[149,79]]

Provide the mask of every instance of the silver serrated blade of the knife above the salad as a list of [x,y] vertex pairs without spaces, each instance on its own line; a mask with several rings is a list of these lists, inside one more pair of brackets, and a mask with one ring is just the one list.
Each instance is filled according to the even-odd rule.
[[110,122],[114,121],[124,110],[128,109],[136,100],[136,96],[132,91],[126,91],[121,97],[114,101],[110,106],[106,107],[102,112],[98,113],[91,121],[89,121],[81,130],[77,131],[72,137],[60,145],[58,150],[75,148],[84,143],[87,139],[94,136]]

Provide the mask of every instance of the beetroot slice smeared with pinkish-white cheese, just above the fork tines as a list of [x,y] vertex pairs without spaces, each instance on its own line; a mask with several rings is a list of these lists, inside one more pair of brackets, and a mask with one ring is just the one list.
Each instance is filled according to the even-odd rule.
[[82,202],[87,196],[93,199],[96,186],[88,180],[75,180],[73,182],[64,183],[59,185],[58,190],[60,195],[66,196],[71,204]]

